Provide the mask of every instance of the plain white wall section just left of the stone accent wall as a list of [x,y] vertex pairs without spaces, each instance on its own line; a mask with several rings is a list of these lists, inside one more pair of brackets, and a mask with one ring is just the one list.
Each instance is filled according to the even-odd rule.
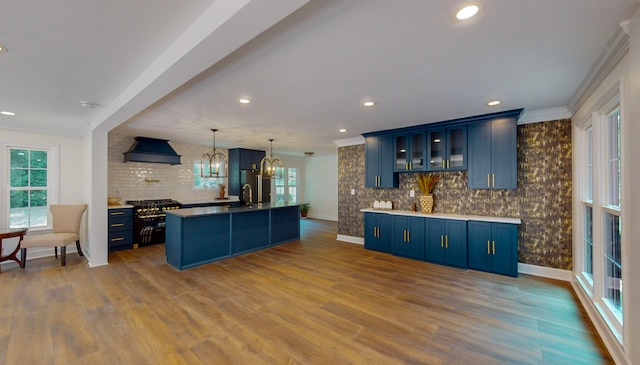
[[310,218],[338,220],[338,155],[306,159],[305,202],[311,205]]

